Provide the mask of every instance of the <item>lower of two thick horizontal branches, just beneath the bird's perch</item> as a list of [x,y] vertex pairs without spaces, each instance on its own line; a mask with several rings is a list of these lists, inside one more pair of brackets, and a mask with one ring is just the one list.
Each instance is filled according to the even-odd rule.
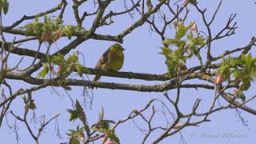
[[[39,78],[32,78],[30,76],[25,76],[23,74],[15,74],[12,72],[6,73],[6,78],[22,80],[24,82],[33,84],[33,85],[42,85],[47,83],[48,86],[62,86],[61,83],[65,83],[65,86],[90,86],[90,87],[100,87],[111,90],[135,90],[142,92],[162,92],[166,90],[176,89],[174,81],[166,82],[160,85],[147,86],[147,85],[132,85],[132,84],[122,84],[122,83],[114,83],[114,82],[91,82],[86,80],[77,80],[77,79],[66,79],[62,81],[54,81],[54,80],[44,80]],[[214,86],[206,85],[206,84],[184,84],[181,88],[205,88],[213,90]]]

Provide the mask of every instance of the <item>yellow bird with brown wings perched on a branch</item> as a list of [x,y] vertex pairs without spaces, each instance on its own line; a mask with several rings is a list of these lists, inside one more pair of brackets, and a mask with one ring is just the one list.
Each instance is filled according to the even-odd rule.
[[[98,60],[95,69],[104,71],[118,71],[122,68],[124,61],[123,51],[125,49],[118,43],[110,46],[108,50],[102,54],[102,57]],[[98,81],[101,75],[96,75],[94,81]]]

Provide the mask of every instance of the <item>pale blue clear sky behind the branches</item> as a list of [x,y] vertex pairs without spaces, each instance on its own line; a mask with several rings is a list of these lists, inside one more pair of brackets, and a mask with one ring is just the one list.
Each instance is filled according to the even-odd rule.
[[[122,10],[123,1],[112,2],[111,8],[117,11]],[[200,7],[206,7],[206,15],[208,18],[211,18],[214,9],[218,6],[219,1],[198,1]],[[56,6],[58,1],[51,0],[22,0],[22,1],[10,1],[10,10],[5,16],[3,24],[4,26],[9,26],[11,23],[15,22],[19,18],[22,18],[24,14],[31,15],[37,14],[48,10]],[[84,10],[90,10],[93,5],[84,6]],[[198,22],[199,30],[206,30],[206,27],[202,25],[201,15],[198,14],[197,10],[193,6],[189,6],[191,10],[187,23],[189,22]],[[81,9],[82,10],[82,9]],[[219,42],[213,44],[213,54],[220,54],[225,50],[232,50],[238,46],[246,46],[250,42],[250,38],[256,35],[256,21],[254,20],[254,14],[256,12],[254,1],[234,1],[234,0],[224,0],[221,9],[219,10],[217,17],[212,26],[212,31],[214,34],[221,30],[225,26],[230,14],[238,14],[235,18],[235,21],[238,22],[237,34],[231,36],[230,38],[224,38]],[[126,18],[117,17],[114,18],[113,26],[107,26],[102,29],[97,30],[98,33],[103,34],[118,34],[129,26],[132,22],[138,19],[138,15],[135,15],[134,19],[129,18],[126,15]],[[66,13],[64,14],[65,24],[75,24],[73,12],[71,6],[68,6]],[[26,24],[24,22],[23,24]],[[90,19],[88,20],[90,24]],[[85,24],[85,28],[88,28],[88,24]],[[173,31],[170,30],[166,35],[169,38],[174,36]],[[9,37],[10,38],[10,37]],[[11,40],[12,38],[10,38]],[[65,46],[69,42],[66,38],[62,38],[57,42],[57,45],[53,46],[52,51],[58,50],[57,47]],[[94,41],[89,40],[83,42],[82,45],[79,45],[76,50],[79,50],[85,55],[85,63],[88,67],[94,67],[98,58],[101,57],[103,52],[114,42],[104,42],[104,41]],[[37,42],[30,42],[29,44],[22,46],[30,46],[35,50]],[[149,25],[145,24],[139,27],[137,30],[134,30],[131,34],[127,35],[124,38],[124,43],[122,46],[126,49],[125,51],[125,63],[122,68],[122,71],[132,71],[140,73],[152,73],[152,74],[162,74],[166,73],[165,58],[158,54],[160,52],[159,47],[162,46],[162,42],[157,34],[149,31]],[[54,50],[55,49],[55,50]],[[255,50],[254,50],[255,52]],[[255,54],[254,54],[255,55]],[[14,57],[17,59],[17,57]],[[11,59],[10,61],[13,61]],[[27,60],[30,60],[29,58]],[[18,61],[18,59],[17,59]],[[191,66],[198,65],[197,61],[190,62]],[[90,76],[90,78],[92,78]],[[122,83],[134,83],[134,84],[148,84],[153,85],[159,82],[146,82],[133,79],[124,79],[124,78],[107,78],[102,77],[102,82],[122,82]],[[25,85],[22,82],[9,81],[14,86],[14,90],[18,90]],[[56,94],[58,91],[58,94]],[[38,90],[38,92],[33,93],[34,99],[37,104],[38,109],[35,110],[36,114],[46,115],[46,118],[54,116],[54,114],[61,113],[61,116],[58,118],[58,125],[60,132],[62,134],[62,139],[59,139],[56,136],[55,131],[55,121],[51,122],[50,125],[46,127],[45,133],[42,134],[42,137],[39,139],[39,143],[60,143],[67,142],[66,132],[69,129],[75,129],[77,122],[69,122],[69,114],[66,112],[66,109],[72,108],[70,99],[66,96],[62,89],[56,88],[56,91],[51,88],[46,88],[43,90]],[[254,86],[246,94],[252,96],[255,94]],[[97,122],[98,113],[101,111],[102,106],[105,108],[106,118],[111,118],[114,121],[118,121],[119,118],[126,118],[130,114],[131,110],[141,109],[146,105],[146,102],[149,102],[152,98],[164,99],[162,93],[145,93],[138,91],[129,91],[129,90],[108,90],[100,89],[93,91],[94,101],[92,109],[86,104],[85,110],[89,118],[90,124]],[[169,92],[174,94],[174,92]],[[89,91],[90,97],[92,97],[91,92]],[[84,97],[82,96],[82,88],[74,88],[70,92],[72,98],[78,98],[81,102]],[[183,111],[191,110],[194,100],[196,98],[202,98],[202,106],[200,110],[209,106],[211,98],[214,96],[214,91],[209,90],[182,90],[180,107]],[[87,98],[88,100],[88,98]],[[223,102],[223,101],[221,101]],[[250,106],[254,106],[254,101],[251,102]],[[161,106],[156,104],[160,109]],[[23,114],[24,104],[22,98],[17,98],[11,110],[14,110],[15,114]],[[32,116],[32,114],[30,114]],[[242,112],[242,117],[248,120],[249,128],[246,128],[242,125],[242,122],[239,121],[238,115],[236,115],[235,110],[222,110],[216,114],[210,116],[211,122],[204,122],[198,127],[187,127],[182,130],[182,135],[186,139],[186,142],[189,144],[195,143],[208,143],[208,144],[240,144],[240,143],[253,143],[255,142],[254,134],[256,132],[256,125],[254,124],[256,118],[252,114]],[[9,114],[8,122],[11,125],[14,124],[14,118]],[[136,122],[142,127],[146,127],[140,122],[140,119],[137,119]],[[158,115],[155,118],[154,122],[160,123],[164,122],[161,115]],[[23,123],[18,122],[18,134],[20,136],[19,143],[29,144],[34,143],[33,138],[30,137],[26,127]],[[81,125],[81,124],[80,124]],[[143,134],[134,126],[133,122],[127,122],[125,125],[118,127],[116,130],[121,143],[140,143],[143,138]],[[245,138],[191,138],[191,134],[218,134],[218,133],[232,133],[232,134],[245,134]],[[157,133],[158,134],[158,133]],[[153,135],[157,135],[153,134]],[[8,130],[6,122],[0,129],[0,143],[15,143],[15,136],[11,130]],[[153,139],[155,137],[153,136]],[[152,140],[152,139],[150,139]],[[160,142],[163,144],[169,143],[178,143],[180,141],[180,135],[175,134],[173,137],[166,138],[166,140]],[[101,142],[101,141],[100,141]],[[96,143],[100,143],[96,142]],[[147,142],[150,143],[150,142]]]

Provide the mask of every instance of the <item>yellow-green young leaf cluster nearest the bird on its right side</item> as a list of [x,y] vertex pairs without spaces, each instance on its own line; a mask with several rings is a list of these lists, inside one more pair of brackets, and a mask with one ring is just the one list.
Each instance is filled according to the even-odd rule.
[[[195,36],[190,30],[190,26],[184,26],[183,22],[176,22],[176,34],[174,38],[166,38],[163,42],[168,47],[162,47],[162,52],[166,56],[166,65],[169,74],[176,74],[179,68],[186,67],[186,59],[196,56],[202,63],[199,48],[205,45],[205,38]],[[189,34],[188,34],[189,33]],[[186,38],[184,38],[186,36]]]

